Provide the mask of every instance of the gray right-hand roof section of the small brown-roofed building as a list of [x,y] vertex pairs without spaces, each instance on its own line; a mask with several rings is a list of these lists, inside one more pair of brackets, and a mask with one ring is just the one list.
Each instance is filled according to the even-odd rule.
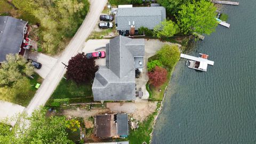
[[129,135],[128,115],[127,114],[117,114],[117,134],[118,135]]

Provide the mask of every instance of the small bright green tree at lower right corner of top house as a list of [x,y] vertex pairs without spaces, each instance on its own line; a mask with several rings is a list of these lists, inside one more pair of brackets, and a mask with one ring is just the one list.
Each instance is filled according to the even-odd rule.
[[154,28],[154,35],[158,38],[172,37],[177,33],[179,33],[179,27],[171,20],[164,20]]

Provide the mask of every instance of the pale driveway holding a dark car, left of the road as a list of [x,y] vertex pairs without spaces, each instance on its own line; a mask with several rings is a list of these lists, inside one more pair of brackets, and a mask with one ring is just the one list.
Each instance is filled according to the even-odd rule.
[[42,63],[41,69],[35,69],[36,73],[45,78],[57,62],[57,59],[52,58],[43,53],[30,52],[28,58]]

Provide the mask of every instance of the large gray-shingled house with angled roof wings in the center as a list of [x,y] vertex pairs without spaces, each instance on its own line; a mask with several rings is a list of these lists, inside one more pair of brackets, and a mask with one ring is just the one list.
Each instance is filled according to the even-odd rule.
[[144,53],[144,39],[110,39],[106,44],[106,66],[100,66],[95,73],[94,101],[135,100],[135,69],[142,71]]

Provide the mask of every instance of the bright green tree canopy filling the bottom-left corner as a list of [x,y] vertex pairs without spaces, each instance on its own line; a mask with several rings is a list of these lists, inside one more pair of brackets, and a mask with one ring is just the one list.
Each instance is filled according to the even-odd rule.
[[[0,133],[0,143],[74,143],[67,137],[66,118],[46,117],[46,109],[43,107],[35,110],[30,117],[21,115],[18,124],[11,131],[8,128],[0,123],[0,130],[4,130]],[[19,137],[16,137],[17,134]]]

